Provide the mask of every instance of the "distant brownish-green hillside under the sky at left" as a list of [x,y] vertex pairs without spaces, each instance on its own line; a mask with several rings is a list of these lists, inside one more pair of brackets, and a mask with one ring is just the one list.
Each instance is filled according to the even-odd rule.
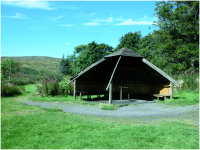
[[61,58],[47,56],[24,56],[24,57],[1,57],[1,61],[6,59],[14,59],[20,62],[21,67],[32,68],[38,70],[41,68],[55,69],[59,65]]

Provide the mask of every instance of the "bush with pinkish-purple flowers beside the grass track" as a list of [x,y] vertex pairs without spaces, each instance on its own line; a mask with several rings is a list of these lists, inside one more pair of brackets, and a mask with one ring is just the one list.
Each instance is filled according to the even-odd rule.
[[36,87],[41,96],[59,95],[59,84],[55,79],[44,79],[42,85],[36,85]]

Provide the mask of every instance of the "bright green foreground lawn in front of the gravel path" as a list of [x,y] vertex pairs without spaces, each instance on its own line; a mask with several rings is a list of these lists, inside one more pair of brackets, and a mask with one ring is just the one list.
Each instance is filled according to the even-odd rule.
[[135,124],[64,113],[20,103],[32,96],[1,98],[2,149],[198,149],[199,131],[186,122]]

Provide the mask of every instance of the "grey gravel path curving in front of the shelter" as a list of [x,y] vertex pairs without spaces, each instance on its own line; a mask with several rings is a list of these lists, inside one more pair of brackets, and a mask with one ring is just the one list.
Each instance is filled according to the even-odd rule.
[[[137,104],[118,108],[117,110],[102,110],[99,106],[89,105],[69,105],[59,102],[35,102],[21,101],[27,105],[41,106],[45,108],[58,108],[68,113],[83,115],[93,115],[100,117],[131,117],[144,119],[146,121],[161,119],[190,120],[195,125],[199,124],[199,104],[188,106],[169,106],[156,102],[142,100],[127,101],[127,103]],[[104,103],[102,101],[102,103]],[[126,103],[126,101],[113,101],[113,103]]]

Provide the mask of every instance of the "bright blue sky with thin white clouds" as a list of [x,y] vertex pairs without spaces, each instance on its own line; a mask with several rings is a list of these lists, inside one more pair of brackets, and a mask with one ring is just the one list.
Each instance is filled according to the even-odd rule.
[[128,32],[156,29],[154,8],[155,1],[1,1],[1,56],[62,57],[92,41],[115,48]]

